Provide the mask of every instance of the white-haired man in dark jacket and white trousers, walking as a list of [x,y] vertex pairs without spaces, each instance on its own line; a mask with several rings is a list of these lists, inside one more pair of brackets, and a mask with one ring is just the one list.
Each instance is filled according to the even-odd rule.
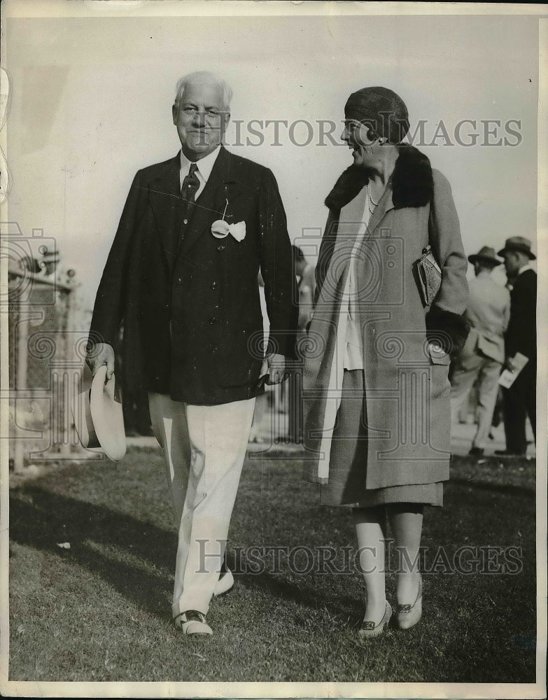
[[[110,376],[124,322],[122,367],[148,391],[179,531],[173,617],[185,634],[212,633],[205,615],[222,582],[260,376],[280,381],[297,323],[274,175],[221,145],[231,97],[211,73],[179,80],[173,122],[181,151],[136,174],[90,331],[92,372],[106,364]],[[214,236],[219,220],[239,224],[234,235]],[[266,360],[259,269],[270,324]]]

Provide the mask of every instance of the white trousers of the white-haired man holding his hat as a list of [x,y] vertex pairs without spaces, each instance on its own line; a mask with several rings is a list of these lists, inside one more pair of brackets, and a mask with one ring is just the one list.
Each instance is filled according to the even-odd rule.
[[149,394],[179,528],[173,616],[204,615],[218,581],[255,399],[194,406]]

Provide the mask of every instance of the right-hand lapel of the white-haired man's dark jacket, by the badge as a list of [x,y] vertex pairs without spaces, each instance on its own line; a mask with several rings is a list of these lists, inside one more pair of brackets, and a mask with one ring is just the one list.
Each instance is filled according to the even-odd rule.
[[231,173],[230,153],[221,146],[206,186],[192,207],[188,228],[179,246],[178,254],[187,253],[202,235],[208,233],[211,235],[211,224],[223,218],[225,207],[225,221],[236,223],[232,203],[240,194],[239,183]]

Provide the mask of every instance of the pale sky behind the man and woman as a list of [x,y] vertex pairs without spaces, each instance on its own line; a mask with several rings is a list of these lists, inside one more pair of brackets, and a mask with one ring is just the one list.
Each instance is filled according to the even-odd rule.
[[[226,4],[226,3],[225,3]],[[229,3],[230,4],[230,3]],[[367,85],[406,102],[412,129],[430,144],[443,121],[451,143],[421,146],[449,179],[466,253],[536,235],[538,20],[512,16],[146,17],[8,19],[12,78],[7,123],[12,186],[8,218],[24,235],[43,229],[76,269],[81,295],[95,290],[135,172],[174,156],[171,121],[181,76],[206,69],[234,89],[232,120],[308,120],[314,139],[291,144],[272,127],[260,146],[230,150],[267,165],[279,183],[290,238],[312,259],[325,195],[351,155],[338,137],[344,102]],[[459,146],[454,130],[476,120]],[[340,146],[318,145],[318,120],[337,120]],[[521,120],[519,146],[484,145],[481,120]],[[517,129],[514,125],[512,128]],[[307,130],[295,129],[301,143]],[[5,216],[4,216],[5,218]],[[305,236],[303,240],[303,236]]]

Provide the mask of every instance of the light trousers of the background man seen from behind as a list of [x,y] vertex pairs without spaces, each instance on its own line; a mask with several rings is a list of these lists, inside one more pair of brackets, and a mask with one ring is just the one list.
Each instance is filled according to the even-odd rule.
[[498,393],[498,378],[503,365],[479,351],[459,356],[451,377],[451,421],[458,422],[458,413],[468,401],[477,380],[477,430],[472,447],[485,449]]

